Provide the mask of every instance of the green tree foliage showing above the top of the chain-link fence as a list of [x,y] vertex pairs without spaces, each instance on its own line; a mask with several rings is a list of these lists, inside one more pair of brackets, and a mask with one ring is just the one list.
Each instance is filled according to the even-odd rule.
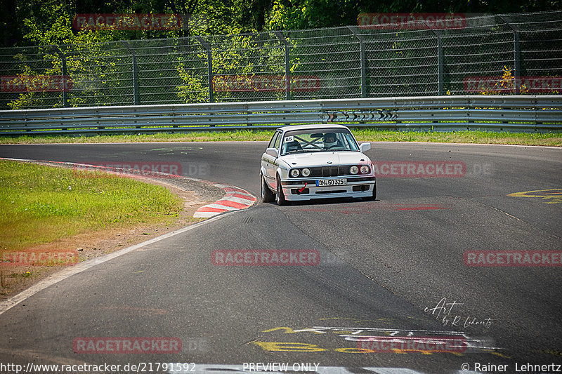
[[[72,19],[77,13],[180,13],[202,20],[188,29],[111,31],[112,40],[132,40],[356,25],[357,15],[363,12],[514,13],[561,7],[560,0],[13,0],[7,1],[0,13],[0,46],[29,45],[39,39],[53,43],[72,39],[68,29],[57,32],[52,26],[61,16],[70,15]],[[77,30],[71,32],[76,34]],[[40,37],[40,33],[47,35]],[[25,37],[31,34],[33,39]]]

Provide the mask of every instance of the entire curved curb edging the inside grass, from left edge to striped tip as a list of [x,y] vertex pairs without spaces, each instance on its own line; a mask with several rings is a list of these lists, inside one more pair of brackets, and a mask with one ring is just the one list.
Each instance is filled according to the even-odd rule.
[[106,171],[108,173],[117,173],[127,178],[140,178],[143,176],[145,177],[159,176],[160,178],[185,178],[189,180],[195,180],[196,182],[207,183],[208,185],[212,185],[214,187],[223,189],[223,191],[225,192],[225,196],[223,196],[222,199],[197,209],[195,214],[193,214],[193,218],[211,218],[215,215],[225,213],[228,211],[240,211],[241,209],[249,208],[250,206],[254,205],[254,203],[256,203],[257,201],[256,196],[250,194],[245,189],[241,189],[240,187],[236,187],[232,185],[224,185],[222,183],[217,183],[217,182],[209,182],[209,180],[183,177],[181,175],[166,174],[158,171],[151,172],[150,175],[143,175],[143,173],[141,172],[135,173],[136,171],[134,169],[131,169],[126,173],[123,173],[122,168],[113,168],[110,166],[98,166],[98,165],[91,165],[87,163],[44,161],[44,160],[30,160],[30,159],[11,159],[8,157],[0,157],[0,159],[12,160],[12,161],[34,161],[34,162],[55,163],[55,164],[58,163],[58,164],[73,166],[77,168],[96,168],[100,171]]

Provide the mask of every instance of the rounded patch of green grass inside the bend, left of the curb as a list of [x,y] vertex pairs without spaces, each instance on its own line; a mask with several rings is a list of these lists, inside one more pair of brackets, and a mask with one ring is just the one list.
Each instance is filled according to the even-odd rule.
[[0,161],[4,251],[85,231],[162,222],[180,211],[180,200],[164,187],[108,173]]

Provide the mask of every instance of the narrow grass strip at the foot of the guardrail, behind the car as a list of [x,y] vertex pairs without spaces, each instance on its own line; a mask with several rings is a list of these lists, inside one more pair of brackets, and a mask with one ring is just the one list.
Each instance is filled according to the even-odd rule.
[[[562,133],[509,133],[492,131],[376,131],[353,129],[362,142],[449,142],[504,145],[543,145],[562,147]],[[273,135],[268,131],[214,131],[193,133],[155,133],[141,135],[97,136],[21,136],[0,137],[0,144],[45,143],[105,143],[105,142],[224,142],[267,141]]]

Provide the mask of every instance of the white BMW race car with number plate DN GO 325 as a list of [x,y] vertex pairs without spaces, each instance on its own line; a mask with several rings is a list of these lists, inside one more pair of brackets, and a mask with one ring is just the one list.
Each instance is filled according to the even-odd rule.
[[370,143],[358,144],[346,126],[277,128],[261,156],[261,199],[287,201],[334,197],[377,198]]

